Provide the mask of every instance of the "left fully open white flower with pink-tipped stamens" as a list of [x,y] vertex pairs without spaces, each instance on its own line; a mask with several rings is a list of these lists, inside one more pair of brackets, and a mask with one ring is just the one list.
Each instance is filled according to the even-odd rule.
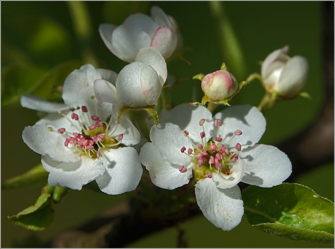
[[[139,132],[127,115],[116,125],[112,104],[100,106],[94,98],[94,80],[113,82],[115,74],[89,64],[74,70],[65,79],[62,94],[64,104],[74,111],[50,113],[24,128],[23,141],[42,155],[43,167],[50,172],[50,186],[80,190],[96,180],[103,192],[120,194],[138,185],[142,175],[139,156],[134,148],[121,148],[119,144],[139,143]],[[36,107],[35,102],[30,103]],[[48,108],[53,104],[49,103]]]

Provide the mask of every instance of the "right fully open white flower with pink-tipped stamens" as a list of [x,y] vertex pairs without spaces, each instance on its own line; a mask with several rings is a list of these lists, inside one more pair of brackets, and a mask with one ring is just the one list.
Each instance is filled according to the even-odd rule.
[[159,120],[150,130],[152,143],[140,152],[152,182],[174,189],[193,176],[201,211],[222,230],[230,231],[241,222],[240,181],[272,187],[291,174],[290,160],[283,152],[256,144],[266,126],[256,107],[227,107],[213,118],[204,106],[181,104],[162,110]]

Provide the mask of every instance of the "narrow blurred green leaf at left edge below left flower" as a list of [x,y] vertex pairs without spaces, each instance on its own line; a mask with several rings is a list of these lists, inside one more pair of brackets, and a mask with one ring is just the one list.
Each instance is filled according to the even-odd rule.
[[48,180],[48,175],[49,172],[43,168],[42,164],[39,164],[21,175],[8,179],[1,188],[16,189],[29,187],[40,182],[46,182]]

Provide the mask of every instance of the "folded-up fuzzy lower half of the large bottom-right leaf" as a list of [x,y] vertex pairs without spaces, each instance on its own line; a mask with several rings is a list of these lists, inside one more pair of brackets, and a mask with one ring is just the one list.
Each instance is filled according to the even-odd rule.
[[271,235],[290,238],[293,240],[308,240],[311,242],[334,243],[334,234],[324,231],[298,228],[278,223],[261,223],[252,225]]

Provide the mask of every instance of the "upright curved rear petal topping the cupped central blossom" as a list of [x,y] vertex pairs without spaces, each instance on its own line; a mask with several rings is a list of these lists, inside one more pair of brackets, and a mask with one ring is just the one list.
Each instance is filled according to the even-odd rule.
[[162,55],[152,47],[140,49],[136,55],[135,61],[143,62],[151,66],[159,75],[161,86],[164,85],[167,77],[166,63]]

